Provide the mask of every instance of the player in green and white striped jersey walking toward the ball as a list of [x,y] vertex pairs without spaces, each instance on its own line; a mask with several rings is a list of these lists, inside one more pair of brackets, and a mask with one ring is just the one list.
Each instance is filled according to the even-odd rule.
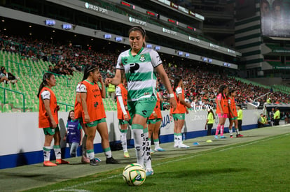
[[174,110],[177,103],[174,100],[170,80],[165,73],[158,53],[152,49],[144,48],[145,36],[146,31],[142,27],[134,26],[130,28],[129,41],[131,48],[119,55],[115,77],[106,78],[106,84],[118,85],[120,84],[121,73],[126,74],[128,84],[127,104],[130,116],[133,118],[132,135],[137,163],[144,165],[145,161],[146,175],[153,175],[146,119],[153,112],[157,101],[156,71],[159,73],[168,93],[170,93],[170,103]]

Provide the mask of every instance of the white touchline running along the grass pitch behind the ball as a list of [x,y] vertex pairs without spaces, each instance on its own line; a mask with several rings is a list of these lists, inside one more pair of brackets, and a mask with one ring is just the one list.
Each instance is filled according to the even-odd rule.
[[[245,146],[248,146],[248,145],[254,145],[256,143],[259,143],[259,142],[267,142],[269,140],[275,140],[275,139],[278,139],[278,138],[284,138],[286,136],[289,136],[290,133],[286,133],[286,134],[283,134],[283,135],[277,135],[277,136],[272,136],[270,138],[263,138],[261,140],[256,140],[256,141],[252,141],[252,142],[247,142],[245,144],[237,144],[233,147],[231,146],[228,146],[228,147],[221,147],[220,149],[217,148],[217,149],[209,149],[205,152],[199,152],[198,154],[193,154],[193,155],[186,155],[184,157],[181,157],[181,158],[174,158],[173,160],[170,160],[170,161],[165,161],[165,162],[162,162],[162,163],[157,163],[155,165],[153,165],[153,167],[156,167],[156,166],[159,166],[159,165],[165,165],[165,164],[168,164],[168,163],[174,163],[174,162],[178,162],[178,161],[184,161],[184,160],[187,160],[187,159],[190,159],[190,158],[195,158],[197,156],[204,156],[204,155],[207,155],[207,154],[213,154],[213,153],[219,153],[219,152],[223,152],[223,151],[227,151],[227,150],[230,150],[230,149],[236,149],[238,147],[245,147]],[[118,175],[111,175],[110,177],[105,177],[105,178],[102,178],[102,179],[96,179],[94,181],[90,181],[90,182],[83,182],[81,184],[76,184],[74,186],[69,186],[67,188],[64,188],[64,189],[58,189],[58,190],[53,190],[53,191],[78,191],[78,189],[76,189],[77,187],[81,187],[81,186],[85,186],[85,185],[88,185],[88,184],[95,184],[95,183],[98,183],[98,182],[102,182],[104,180],[107,180],[107,179],[113,179],[113,178],[116,178],[116,177],[120,177],[120,174]]]

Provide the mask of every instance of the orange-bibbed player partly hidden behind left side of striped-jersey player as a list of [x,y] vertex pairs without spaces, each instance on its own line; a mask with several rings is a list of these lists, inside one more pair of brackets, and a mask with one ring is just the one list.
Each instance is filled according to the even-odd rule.
[[124,157],[129,158],[130,155],[127,151],[127,126],[129,120],[131,119],[128,108],[127,108],[127,94],[128,91],[127,82],[125,77],[122,77],[122,83],[118,84],[116,87],[116,96],[117,96],[117,110],[118,110],[118,119],[120,126],[120,140],[122,142]]

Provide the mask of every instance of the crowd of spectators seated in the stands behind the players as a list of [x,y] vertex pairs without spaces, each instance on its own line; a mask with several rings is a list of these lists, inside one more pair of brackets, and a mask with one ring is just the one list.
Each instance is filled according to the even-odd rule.
[[[74,71],[82,71],[85,66],[97,65],[102,71],[103,77],[111,77],[115,71],[118,54],[111,52],[96,52],[90,47],[83,49],[80,46],[63,45],[62,43],[48,43],[45,40],[24,38],[20,36],[4,36],[0,34],[0,48],[7,52],[15,52],[22,55],[22,59],[30,57],[34,61],[43,59],[50,61],[48,71],[61,75],[73,75]],[[227,84],[230,89],[237,91],[236,103],[247,105],[253,101],[263,103],[290,103],[289,94],[272,92],[270,89],[245,84],[226,74],[212,73],[207,68],[200,68],[194,64],[171,64],[164,61],[165,71],[173,83],[174,75],[181,75],[184,79],[186,101],[192,106],[215,105],[215,98],[220,84]],[[160,95],[165,99],[163,108],[168,109],[167,93],[159,79]],[[271,92],[269,96],[264,94]],[[270,98],[270,99],[269,99]]]

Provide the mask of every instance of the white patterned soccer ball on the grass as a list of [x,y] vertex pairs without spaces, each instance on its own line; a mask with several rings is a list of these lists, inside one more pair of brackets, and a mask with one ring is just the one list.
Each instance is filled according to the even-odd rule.
[[146,171],[142,165],[132,163],[123,170],[123,179],[130,186],[139,186],[145,182]]

